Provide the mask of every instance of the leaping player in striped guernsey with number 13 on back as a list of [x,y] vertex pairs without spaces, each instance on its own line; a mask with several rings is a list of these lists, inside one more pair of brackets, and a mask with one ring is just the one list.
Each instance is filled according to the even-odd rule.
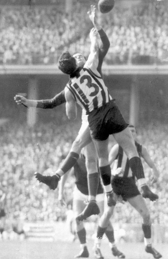
[[[70,75],[70,81],[65,88],[66,113],[68,118],[74,119],[76,117],[76,103],[81,105],[88,114],[90,133],[97,150],[99,170],[106,189],[108,205],[112,206],[115,205],[115,201],[110,183],[111,169],[108,162],[109,134],[113,134],[116,141],[125,150],[129,159],[129,166],[137,178],[144,178],[144,172],[127,123],[122,117],[118,106],[109,95],[108,88],[104,85],[103,79],[97,71],[99,53],[97,31],[100,30],[100,26],[95,24],[95,6],[91,6],[89,17],[94,24],[94,28],[90,32],[91,48],[88,60],[81,67],[84,57],[80,56],[80,59],[78,59],[76,56],[71,56],[70,53],[66,52],[59,59],[59,69],[63,73]],[[78,141],[76,140],[73,143],[73,148],[75,146],[79,152],[79,145],[77,143]],[[82,145],[80,145],[80,150],[81,147]],[[73,163],[78,157],[79,153],[73,152],[65,160],[64,167],[59,169],[56,175],[50,179],[44,179],[42,175],[37,175],[37,179],[49,186],[53,186],[54,184],[57,186],[60,176],[65,173],[65,168],[67,169],[67,165],[73,166]],[[146,187],[148,188],[147,185]],[[149,188],[147,191],[150,191]],[[80,220],[82,220],[82,216],[80,215]]]

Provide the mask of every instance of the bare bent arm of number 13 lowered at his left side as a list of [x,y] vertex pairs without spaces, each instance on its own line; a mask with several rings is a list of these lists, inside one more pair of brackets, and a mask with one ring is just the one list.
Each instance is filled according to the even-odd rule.
[[77,105],[72,93],[67,87],[65,87],[65,99],[66,99],[66,115],[69,120],[74,120],[77,117]]

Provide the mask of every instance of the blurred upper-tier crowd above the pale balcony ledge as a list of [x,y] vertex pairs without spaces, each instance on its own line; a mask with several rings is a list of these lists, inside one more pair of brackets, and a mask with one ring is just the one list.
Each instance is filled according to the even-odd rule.
[[[89,54],[90,21],[86,6],[78,3],[73,12],[56,6],[1,6],[0,63],[53,64],[62,51]],[[110,39],[106,63],[135,63],[137,56],[148,62],[165,62],[167,55],[167,12],[164,3],[114,6],[106,15],[98,13]]]

